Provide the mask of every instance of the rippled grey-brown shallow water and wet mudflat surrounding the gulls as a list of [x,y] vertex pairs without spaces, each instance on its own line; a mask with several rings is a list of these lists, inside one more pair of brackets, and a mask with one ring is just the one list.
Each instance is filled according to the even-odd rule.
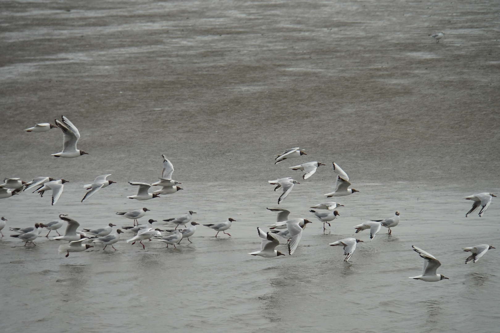
[[[1,177],[69,180],[0,200],[7,227],[68,214],[82,228],[197,212],[177,249],[159,242],[57,255],[0,240],[2,332],[492,332],[497,250],[464,265],[461,248],[495,244],[495,198],[482,218],[462,197],[500,193],[496,1],[10,1],[2,3]],[[66,11],[70,9],[70,11]],[[429,33],[445,31],[435,43]],[[60,131],[25,133],[61,114],[89,155],[56,159]],[[300,146],[307,155],[273,165]],[[182,191],[138,202],[127,181],[153,182],[164,153]],[[267,180],[327,164],[279,206],[313,223],[292,256],[254,258],[273,223]],[[309,206],[345,170],[359,193],[323,233]],[[83,184],[116,181],[79,203]],[[350,263],[327,244],[401,212],[392,236],[364,231]],[[163,226],[161,226],[162,228]],[[45,235],[45,231],[42,235]],[[53,232],[52,232],[53,233]],[[220,235],[220,234],[219,234]],[[131,237],[131,235],[130,235]],[[450,280],[423,283],[411,245]],[[282,245],[282,250],[285,246]]]

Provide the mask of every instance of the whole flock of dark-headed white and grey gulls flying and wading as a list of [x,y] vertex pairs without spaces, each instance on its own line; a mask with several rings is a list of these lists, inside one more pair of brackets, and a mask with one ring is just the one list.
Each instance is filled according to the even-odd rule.
[[[432,36],[436,40],[439,40],[442,35]],[[63,134],[63,147],[62,151],[59,153],[51,154],[54,157],[62,157],[62,158],[75,158],[81,155],[87,154],[86,152],[79,150],[76,148],[76,144],[78,139],[80,138],[80,134],[78,129],[67,119],[62,116],[61,121],[54,120],[55,125],[50,123],[39,123],[35,124],[35,126],[25,129],[26,132],[46,132],[51,128],[58,127],[62,130]],[[288,159],[300,158],[303,155],[307,155],[303,149],[299,147],[295,147],[292,149],[285,150],[282,154],[277,155],[275,158],[275,163],[281,163]],[[135,200],[149,200],[152,198],[157,198],[159,195],[173,194],[179,190],[182,190],[178,184],[179,182],[172,179],[173,173],[173,165],[166,158],[165,155],[161,155],[163,157],[163,169],[161,172],[161,178],[159,181],[148,184],[148,183],[138,183],[138,182],[129,182],[132,186],[137,186],[138,191],[136,195],[128,196],[129,199]],[[302,175],[302,179],[306,180],[311,177],[319,166],[325,165],[323,163],[313,161],[307,162],[295,166],[289,167],[292,170],[301,170],[304,172]],[[350,187],[349,177],[347,173],[345,173],[336,163],[332,162],[333,172],[335,174],[335,190],[330,193],[326,193],[324,196],[327,198],[331,197],[343,197],[351,195],[355,192],[359,192]],[[100,175],[95,178],[95,180],[91,184],[86,184],[83,187],[87,190],[84,194],[81,202],[88,200],[92,197],[98,190],[101,188],[105,188],[114,182],[111,180],[107,180],[111,174]],[[30,182],[24,182],[19,178],[6,178],[4,179],[4,184],[0,185],[0,199],[9,198],[14,195],[20,194],[22,191],[34,189],[33,193],[36,192],[43,196],[45,191],[52,191],[51,196],[51,204],[55,205],[60,198],[64,183],[67,183],[64,179],[53,179],[51,177],[36,177]],[[276,185],[274,191],[279,189],[282,190],[280,194],[277,204],[279,205],[286,197],[290,194],[293,186],[295,184],[300,184],[296,180],[291,177],[279,178],[276,180],[268,181],[269,184]],[[151,186],[160,186],[161,189],[149,192]],[[479,217],[484,214],[491,203],[491,198],[495,197],[495,195],[491,193],[479,193],[471,196],[467,196],[464,199],[471,200],[473,202],[472,208],[466,213],[466,217],[474,212],[477,208],[480,207]],[[337,216],[339,216],[338,211],[335,210],[338,207],[342,207],[337,202],[329,201],[319,203],[317,205],[311,206],[316,210],[310,210],[309,212],[318,219],[320,222],[323,222],[323,232],[325,231],[325,224],[330,226],[330,222],[333,221]],[[261,228],[257,227],[257,234],[260,238],[262,238],[260,244],[260,250],[249,253],[252,256],[260,256],[263,258],[275,258],[279,256],[285,256],[282,252],[276,250],[276,247],[280,245],[280,241],[277,236],[284,238],[287,241],[288,247],[288,255],[293,255],[295,250],[297,249],[298,243],[302,237],[302,232],[305,229],[308,221],[304,218],[289,218],[290,211],[283,208],[267,208],[272,212],[277,212],[276,223],[267,226],[269,228],[269,232],[265,232]],[[324,212],[319,212],[322,210]],[[145,224],[139,224],[138,219],[145,216],[146,212],[149,211],[147,208],[137,209],[130,212],[116,212],[117,215],[123,216],[124,218],[133,220],[133,226],[122,227],[123,230],[127,232],[131,232],[134,236],[128,240],[126,243],[131,243],[132,245],[136,242],[139,242],[142,245],[142,248],[145,249],[142,241],[155,239],[159,242],[165,243],[166,247],[168,245],[172,245],[175,247],[176,244],[179,244],[181,240],[184,238],[192,243],[189,240],[189,237],[194,234],[196,231],[196,226],[198,223],[192,221],[193,214],[196,214],[193,211],[189,211],[186,214],[179,216],[178,218],[170,218],[163,220],[163,225],[171,224],[175,225],[173,230],[160,230],[156,228],[158,224],[155,224],[153,227],[153,223],[157,222],[155,220],[149,219]],[[394,228],[399,224],[399,212],[395,212],[394,216],[384,220],[370,220],[359,225],[354,226],[355,234],[362,232],[363,230],[369,230],[370,232],[370,241],[377,235],[380,231],[381,227],[385,227],[388,229],[388,234],[392,233],[391,228]],[[1,230],[5,227],[7,219],[1,217],[0,220],[0,234],[3,237],[3,233]],[[66,230],[64,235],[60,235],[57,231],[61,228],[66,222]],[[222,232],[225,235],[231,236],[229,233],[225,231],[228,230],[232,222],[235,222],[234,219],[228,218],[225,222],[218,224],[204,224],[210,229],[213,229],[217,233],[215,237]],[[117,243],[120,240],[121,234],[124,234],[124,231],[121,229],[115,230],[113,233],[113,227],[115,226],[112,223],[109,223],[107,226],[90,230],[90,229],[82,229],[78,231],[79,223],[69,217],[67,215],[61,214],[59,215],[59,219],[49,222],[47,224],[37,223],[33,227],[28,228],[10,228],[10,231],[15,232],[15,234],[10,235],[11,237],[16,237],[24,242],[24,246],[28,243],[36,246],[33,242],[41,233],[42,229],[45,228],[48,230],[48,233],[45,237],[48,238],[48,235],[52,230],[54,230],[58,236],[52,237],[51,240],[58,240],[64,242],[58,248],[59,254],[66,254],[65,257],[69,256],[69,252],[82,252],[88,248],[93,247],[93,245],[103,245],[103,250],[109,245],[114,250],[116,250],[113,244]],[[179,226],[183,226],[182,229],[177,229]],[[161,233],[164,233],[162,235]],[[342,246],[345,262],[348,262],[352,257],[354,250],[356,249],[356,244],[359,242],[363,242],[356,238],[344,238],[340,239],[336,242],[330,243],[330,246]],[[412,246],[413,250],[418,253],[418,255],[424,259],[423,263],[423,272],[419,276],[410,277],[410,279],[422,280],[425,282],[436,282],[443,279],[448,279],[442,274],[437,274],[436,270],[441,263],[429,253]],[[463,248],[463,251],[470,252],[471,255],[465,260],[465,264],[469,262],[477,262],[479,258],[481,258],[488,250],[494,249],[491,245],[482,244],[476,245],[473,247]]]

